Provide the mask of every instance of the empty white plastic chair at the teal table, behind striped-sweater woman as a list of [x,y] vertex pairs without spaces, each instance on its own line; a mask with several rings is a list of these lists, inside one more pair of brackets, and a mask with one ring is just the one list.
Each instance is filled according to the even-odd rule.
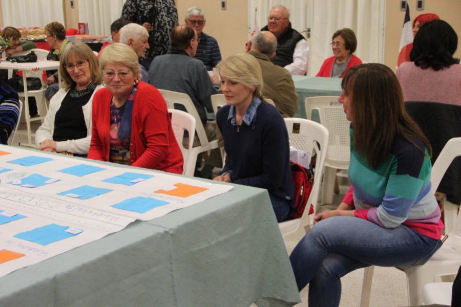
[[323,174],[322,204],[333,202],[334,180],[337,169],[348,169],[350,158],[350,121],[338,96],[307,97],[304,101],[307,119],[312,119],[312,111],[319,113],[320,123],[330,134],[328,152]]

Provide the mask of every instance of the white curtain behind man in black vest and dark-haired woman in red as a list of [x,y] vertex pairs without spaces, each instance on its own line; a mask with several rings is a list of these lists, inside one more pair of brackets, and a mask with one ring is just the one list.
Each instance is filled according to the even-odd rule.
[[257,7],[258,26],[265,26],[270,8],[277,4],[290,10],[294,29],[306,36],[302,31],[310,28],[308,75],[315,76],[323,61],[332,56],[331,36],[341,28],[355,32],[355,55],[365,62],[383,62],[385,0],[248,0],[249,24]]

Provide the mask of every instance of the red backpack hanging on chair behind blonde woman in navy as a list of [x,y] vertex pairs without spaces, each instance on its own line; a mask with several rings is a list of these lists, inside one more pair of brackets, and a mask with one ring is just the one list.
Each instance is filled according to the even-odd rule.
[[[295,183],[295,212],[290,216],[290,219],[299,218],[303,215],[309,199],[310,191],[312,190],[313,172],[312,168],[306,169],[298,163],[290,161],[291,175]],[[309,214],[313,213],[313,206],[310,205]]]

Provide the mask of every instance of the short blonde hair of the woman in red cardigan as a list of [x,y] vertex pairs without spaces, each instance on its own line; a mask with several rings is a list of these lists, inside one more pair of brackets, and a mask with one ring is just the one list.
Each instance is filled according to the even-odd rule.
[[102,71],[108,63],[123,64],[141,79],[141,68],[139,67],[138,55],[128,45],[121,42],[114,42],[102,49],[99,57],[99,68]]

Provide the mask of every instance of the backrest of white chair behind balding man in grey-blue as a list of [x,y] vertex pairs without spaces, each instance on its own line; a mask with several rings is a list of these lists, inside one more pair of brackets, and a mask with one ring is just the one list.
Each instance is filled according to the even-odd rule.
[[195,131],[200,140],[200,145],[208,146],[208,138],[206,137],[205,129],[203,128],[202,121],[200,120],[200,116],[198,115],[197,109],[195,108],[195,105],[192,102],[191,97],[184,93],[178,93],[161,89],[158,90],[165,99],[168,108],[174,109],[175,104],[183,105],[187,113],[195,118]]

